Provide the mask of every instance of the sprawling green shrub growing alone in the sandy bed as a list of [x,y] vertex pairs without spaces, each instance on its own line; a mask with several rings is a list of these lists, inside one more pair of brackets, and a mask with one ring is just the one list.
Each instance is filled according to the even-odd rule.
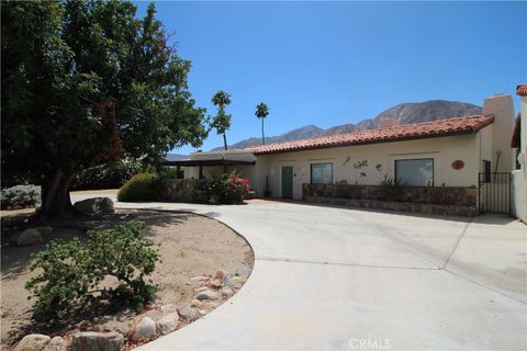
[[[34,257],[25,288],[35,302],[37,320],[60,318],[77,308],[100,303],[114,307],[142,307],[155,298],[157,286],[145,276],[154,272],[159,253],[142,238],[146,226],[141,222],[112,229],[88,233],[88,240],[74,238],[52,242]],[[116,287],[101,286],[105,278],[116,279]]]

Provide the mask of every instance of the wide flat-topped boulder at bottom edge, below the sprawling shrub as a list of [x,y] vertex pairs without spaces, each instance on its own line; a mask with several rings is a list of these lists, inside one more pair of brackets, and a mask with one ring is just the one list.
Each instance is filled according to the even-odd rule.
[[122,333],[81,331],[74,336],[71,351],[119,351],[124,343]]

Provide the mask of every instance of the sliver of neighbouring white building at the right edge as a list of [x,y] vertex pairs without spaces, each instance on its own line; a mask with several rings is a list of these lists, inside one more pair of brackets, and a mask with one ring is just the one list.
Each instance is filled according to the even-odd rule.
[[527,223],[527,84],[519,84],[520,113],[516,118],[511,147],[517,149],[517,169],[513,171],[513,214]]

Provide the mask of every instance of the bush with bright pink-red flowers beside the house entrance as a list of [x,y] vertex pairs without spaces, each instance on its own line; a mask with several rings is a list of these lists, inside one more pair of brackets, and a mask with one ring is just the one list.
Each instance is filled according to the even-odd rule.
[[212,205],[243,204],[250,191],[248,179],[240,178],[235,170],[231,173],[213,176],[212,180],[200,186]]

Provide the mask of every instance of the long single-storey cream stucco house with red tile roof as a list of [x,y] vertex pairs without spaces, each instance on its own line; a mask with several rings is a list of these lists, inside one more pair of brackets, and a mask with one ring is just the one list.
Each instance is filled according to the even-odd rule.
[[[396,183],[428,192],[442,189],[452,196],[462,190],[464,197],[473,197],[472,205],[491,211],[504,211],[502,204],[511,202],[509,178],[502,177],[509,177],[515,165],[509,95],[485,99],[481,115],[408,125],[386,121],[385,125],[248,149],[195,152],[177,165],[187,166],[187,179],[236,168],[250,178],[260,196],[267,190],[273,197],[311,201],[317,190],[310,184],[374,188]],[[360,191],[378,191],[373,188]],[[504,207],[509,211],[508,205]]]

